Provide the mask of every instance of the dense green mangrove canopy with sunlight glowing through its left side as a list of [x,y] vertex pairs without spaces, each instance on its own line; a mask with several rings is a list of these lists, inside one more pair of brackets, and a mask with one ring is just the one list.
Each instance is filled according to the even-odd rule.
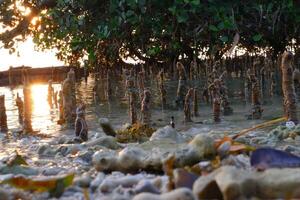
[[300,41],[297,0],[0,0],[0,40],[32,36],[58,58],[114,65],[127,56],[172,63],[220,59],[233,43],[277,55]]

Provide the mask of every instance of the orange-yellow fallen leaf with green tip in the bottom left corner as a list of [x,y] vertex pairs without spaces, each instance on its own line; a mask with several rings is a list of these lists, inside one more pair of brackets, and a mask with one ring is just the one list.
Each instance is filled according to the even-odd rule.
[[35,192],[50,192],[55,197],[59,197],[64,189],[73,183],[74,174],[54,177],[28,178],[24,176],[8,177],[0,184],[9,184],[13,187]]

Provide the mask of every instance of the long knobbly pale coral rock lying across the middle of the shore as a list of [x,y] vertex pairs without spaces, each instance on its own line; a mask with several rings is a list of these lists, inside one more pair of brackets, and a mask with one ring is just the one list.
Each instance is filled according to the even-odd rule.
[[212,138],[196,135],[188,144],[166,139],[130,145],[120,152],[100,150],[93,155],[93,164],[98,171],[162,171],[163,160],[170,154],[175,155],[176,167],[184,167],[209,159],[216,151]]

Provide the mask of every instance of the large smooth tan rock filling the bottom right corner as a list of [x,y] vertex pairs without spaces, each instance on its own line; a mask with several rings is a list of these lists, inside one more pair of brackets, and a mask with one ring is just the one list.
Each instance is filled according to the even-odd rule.
[[246,171],[223,166],[200,177],[193,186],[199,199],[300,198],[300,169]]

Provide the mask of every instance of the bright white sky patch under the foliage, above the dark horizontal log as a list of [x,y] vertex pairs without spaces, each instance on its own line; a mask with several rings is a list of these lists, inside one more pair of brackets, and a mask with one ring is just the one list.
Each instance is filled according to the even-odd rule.
[[51,67],[64,65],[63,62],[57,60],[54,51],[35,51],[32,38],[28,38],[24,43],[19,43],[18,50],[20,56],[17,53],[10,55],[8,50],[0,48],[0,71],[7,70],[9,66]]

